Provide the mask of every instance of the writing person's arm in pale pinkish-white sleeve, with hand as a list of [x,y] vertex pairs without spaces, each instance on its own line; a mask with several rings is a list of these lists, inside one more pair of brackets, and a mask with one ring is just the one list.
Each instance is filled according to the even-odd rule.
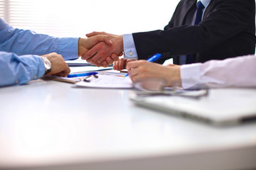
[[[121,60],[114,62],[114,69],[122,69],[119,65],[121,62]],[[146,62],[146,60],[131,60],[126,66],[133,82],[161,78],[166,80],[166,86],[175,84],[183,89],[198,89],[202,86],[207,88],[256,87],[255,55],[166,66]]]

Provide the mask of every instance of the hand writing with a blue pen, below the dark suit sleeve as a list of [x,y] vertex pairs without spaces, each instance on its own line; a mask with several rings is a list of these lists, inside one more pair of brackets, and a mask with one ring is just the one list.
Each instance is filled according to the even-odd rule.
[[163,66],[146,60],[138,60],[128,62],[127,70],[133,82],[160,78],[166,80],[166,86],[181,85],[181,66],[179,65]]

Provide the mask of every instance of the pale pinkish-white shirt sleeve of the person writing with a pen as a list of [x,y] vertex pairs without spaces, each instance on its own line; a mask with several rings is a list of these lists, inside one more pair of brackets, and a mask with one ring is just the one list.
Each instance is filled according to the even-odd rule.
[[256,86],[256,56],[210,60],[181,66],[183,89]]

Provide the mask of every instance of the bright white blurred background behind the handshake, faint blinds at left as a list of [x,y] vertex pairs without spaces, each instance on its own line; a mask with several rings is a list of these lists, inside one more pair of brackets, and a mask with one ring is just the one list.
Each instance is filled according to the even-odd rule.
[[92,31],[123,34],[163,29],[179,0],[0,0],[0,17],[14,28],[60,37]]

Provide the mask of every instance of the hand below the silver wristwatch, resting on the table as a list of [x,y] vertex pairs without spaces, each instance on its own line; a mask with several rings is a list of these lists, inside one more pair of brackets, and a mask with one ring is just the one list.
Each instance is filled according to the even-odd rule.
[[62,55],[58,55],[57,53],[53,52],[48,55],[42,55],[41,57],[46,57],[51,63],[51,71],[47,75],[65,77],[70,73],[70,68],[63,59]]

